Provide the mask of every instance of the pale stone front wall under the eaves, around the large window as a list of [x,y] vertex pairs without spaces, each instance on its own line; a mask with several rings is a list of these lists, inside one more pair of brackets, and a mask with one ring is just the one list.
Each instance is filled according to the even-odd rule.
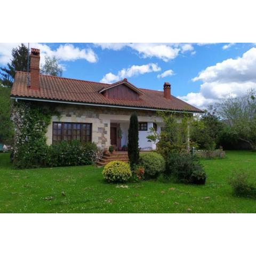
[[[129,122],[130,115],[135,111],[132,109],[91,107],[67,103],[55,103],[54,107],[60,113],[60,117],[52,116],[52,122],[92,123],[92,141],[102,149],[110,146],[110,122]],[[136,112],[139,122],[162,122],[162,119],[156,115],[156,111],[136,110]],[[48,145],[52,143],[52,122],[46,133]]]

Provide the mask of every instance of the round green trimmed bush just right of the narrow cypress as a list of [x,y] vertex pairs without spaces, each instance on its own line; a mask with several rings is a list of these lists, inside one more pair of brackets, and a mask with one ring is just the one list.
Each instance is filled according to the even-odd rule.
[[140,154],[140,165],[145,168],[146,177],[156,177],[164,172],[165,161],[163,156],[156,152]]

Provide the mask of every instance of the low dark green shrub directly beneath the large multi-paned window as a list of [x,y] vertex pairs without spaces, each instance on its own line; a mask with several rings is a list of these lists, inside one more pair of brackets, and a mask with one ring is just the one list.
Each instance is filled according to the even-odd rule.
[[95,143],[61,141],[47,150],[45,166],[89,165],[97,160],[98,148]]

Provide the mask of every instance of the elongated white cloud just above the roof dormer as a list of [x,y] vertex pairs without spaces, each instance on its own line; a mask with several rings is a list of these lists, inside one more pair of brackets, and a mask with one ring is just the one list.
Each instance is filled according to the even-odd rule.
[[105,76],[103,76],[100,82],[113,83],[125,77],[132,77],[140,74],[157,72],[160,70],[161,68],[158,67],[157,63],[149,63],[147,65],[141,66],[133,65],[130,68],[123,68],[122,70],[119,70],[117,75],[114,75],[113,73],[106,74]]

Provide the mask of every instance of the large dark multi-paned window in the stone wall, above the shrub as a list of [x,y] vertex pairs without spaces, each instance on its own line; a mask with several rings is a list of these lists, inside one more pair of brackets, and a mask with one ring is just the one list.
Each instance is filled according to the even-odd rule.
[[92,138],[92,124],[53,122],[52,143],[61,140],[89,142]]

